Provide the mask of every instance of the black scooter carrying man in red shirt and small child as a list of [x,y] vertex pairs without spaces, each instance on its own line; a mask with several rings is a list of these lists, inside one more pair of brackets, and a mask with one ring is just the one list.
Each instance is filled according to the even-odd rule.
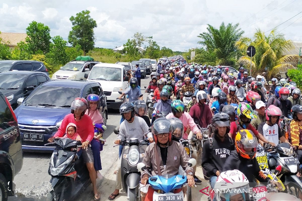
[[81,143],[69,138],[59,138],[48,144],[54,144],[56,149],[51,155],[48,169],[52,190],[47,195],[47,201],[72,200],[91,184],[82,157],[76,159]]

